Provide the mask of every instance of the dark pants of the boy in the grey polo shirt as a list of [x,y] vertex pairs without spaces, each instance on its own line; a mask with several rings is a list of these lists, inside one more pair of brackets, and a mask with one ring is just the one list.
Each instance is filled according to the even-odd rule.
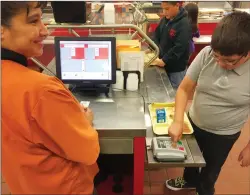
[[[189,118],[190,119],[190,118]],[[221,167],[239,138],[240,132],[234,135],[216,135],[197,127],[192,120],[190,122],[194,129],[194,136],[206,161],[206,167],[185,168],[184,179],[188,184],[196,186],[199,195],[214,195],[215,182],[220,174]]]

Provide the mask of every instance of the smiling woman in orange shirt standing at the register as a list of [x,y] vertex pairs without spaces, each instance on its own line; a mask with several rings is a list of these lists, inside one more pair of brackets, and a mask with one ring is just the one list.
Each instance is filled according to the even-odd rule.
[[60,80],[26,67],[43,53],[45,4],[1,2],[2,174],[12,194],[92,194],[92,112]]

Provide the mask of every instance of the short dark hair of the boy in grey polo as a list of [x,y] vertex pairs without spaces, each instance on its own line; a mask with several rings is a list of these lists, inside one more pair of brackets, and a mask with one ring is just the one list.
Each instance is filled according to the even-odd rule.
[[223,56],[250,52],[250,14],[236,11],[225,16],[215,28],[211,47]]

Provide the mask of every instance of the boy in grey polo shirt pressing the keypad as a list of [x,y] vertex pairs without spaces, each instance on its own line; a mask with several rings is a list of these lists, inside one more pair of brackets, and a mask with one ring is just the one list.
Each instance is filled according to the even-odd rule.
[[[183,178],[170,179],[172,190],[196,188],[199,195],[213,195],[220,170],[250,109],[250,14],[234,12],[216,27],[211,47],[205,47],[192,62],[176,94],[174,122],[169,135],[182,136],[184,110],[195,89],[189,111],[194,136],[206,167],[186,168]],[[196,86],[197,85],[197,86]],[[242,167],[250,165],[250,141],[239,155]]]

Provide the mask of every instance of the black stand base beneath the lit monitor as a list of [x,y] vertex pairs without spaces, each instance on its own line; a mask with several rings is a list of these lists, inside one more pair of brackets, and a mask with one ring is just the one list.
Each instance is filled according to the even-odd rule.
[[108,96],[110,85],[107,84],[76,84],[71,87],[71,92],[83,92],[85,95],[98,96],[104,93]]

